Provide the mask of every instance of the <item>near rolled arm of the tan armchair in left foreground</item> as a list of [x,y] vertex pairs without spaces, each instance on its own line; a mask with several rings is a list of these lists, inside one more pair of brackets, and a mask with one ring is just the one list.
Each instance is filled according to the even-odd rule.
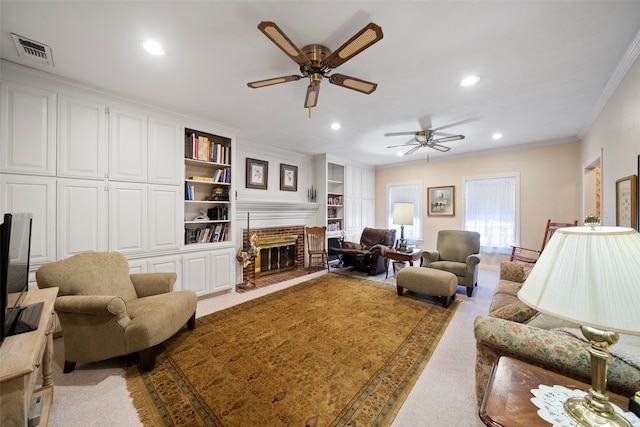
[[111,295],[61,296],[56,298],[55,311],[61,316],[102,316],[106,320],[115,317],[116,321],[123,327],[131,321],[124,300]]

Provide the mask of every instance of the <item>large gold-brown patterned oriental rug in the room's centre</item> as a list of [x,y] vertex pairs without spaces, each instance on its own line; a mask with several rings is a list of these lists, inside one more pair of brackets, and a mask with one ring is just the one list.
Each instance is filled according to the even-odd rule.
[[458,304],[329,273],[198,318],[127,388],[145,426],[388,426]]

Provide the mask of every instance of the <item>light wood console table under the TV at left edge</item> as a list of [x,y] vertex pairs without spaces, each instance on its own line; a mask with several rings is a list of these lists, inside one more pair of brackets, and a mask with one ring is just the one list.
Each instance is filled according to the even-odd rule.
[[[53,401],[53,303],[58,288],[29,290],[24,305],[44,302],[38,329],[6,337],[0,346],[0,425],[26,426],[29,405],[42,396],[40,426]],[[42,365],[42,387],[34,390]]]

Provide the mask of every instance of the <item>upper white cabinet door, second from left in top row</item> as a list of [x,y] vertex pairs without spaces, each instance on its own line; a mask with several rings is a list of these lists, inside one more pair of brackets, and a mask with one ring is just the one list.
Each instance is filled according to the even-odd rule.
[[58,176],[105,178],[105,106],[61,95],[58,112]]

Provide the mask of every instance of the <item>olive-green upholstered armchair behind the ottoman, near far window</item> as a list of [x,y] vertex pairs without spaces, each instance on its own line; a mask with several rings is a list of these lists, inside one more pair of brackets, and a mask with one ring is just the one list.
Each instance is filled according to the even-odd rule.
[[466,286],[467,296],[478,285],[480,264],[480,233],[464,230],[441,230],[438,232],[436,250],[422,253],[422,266],[453,273],[458,285]]

